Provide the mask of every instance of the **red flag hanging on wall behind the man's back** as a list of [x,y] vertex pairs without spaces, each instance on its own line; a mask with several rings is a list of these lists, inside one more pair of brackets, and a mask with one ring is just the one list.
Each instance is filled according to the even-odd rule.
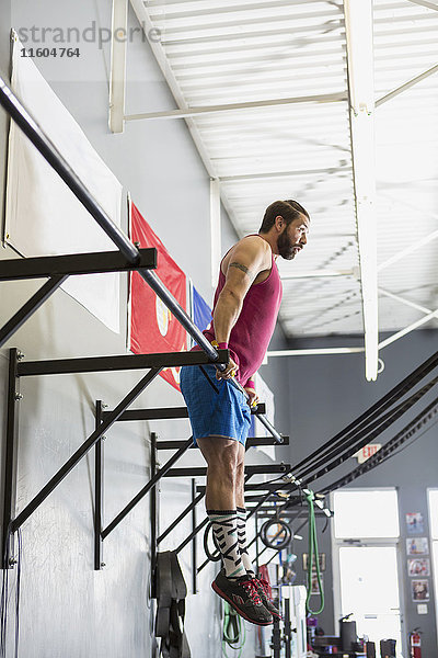
[[[141,248],[155,247],[157,275],[186,309],[186,276],[170,257],[160,238],[130,202],[130,236]],[[187,349],[187,334],[165,304],[141,279],[132,272],[130,280],[130,345],[135,354],[182,352]],[[165,368],[161,376],[180,390],[180,370]]]

